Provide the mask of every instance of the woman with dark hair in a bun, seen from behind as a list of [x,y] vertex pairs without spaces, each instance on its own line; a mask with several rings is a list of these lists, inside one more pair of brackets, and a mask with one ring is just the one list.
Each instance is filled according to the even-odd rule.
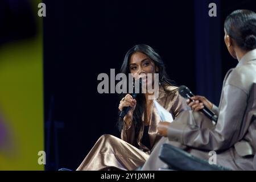
[[[166,167],[158,158],[163,143],[208,161],[209,152],[215,151],[216,164],[232,170],[256,169],[256,13],[234,11],[224,31],[226,47],[238,64],[226,73],[219,107],[204,97],[192,97],[195,102],[187,102],[193,112],[184,111],[171,124],[159,123],[159,134],[168,138],[159,141],[142,170]],[[218,115],[215,125],[198,112],[203,104]]]

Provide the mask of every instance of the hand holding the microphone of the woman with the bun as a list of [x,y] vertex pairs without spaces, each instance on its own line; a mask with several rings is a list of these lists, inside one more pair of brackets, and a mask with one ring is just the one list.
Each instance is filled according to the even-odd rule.
[[203,109],[204,105],[207,106],[209,109],[212,109],[212,106],[213,106],[212,102],[208,101],[207,98],[203,96],[194,96],[194,97],[191,97],[191,99],[194,100],[195,102],[188,99],[187,104],[194,111],[199,111]]

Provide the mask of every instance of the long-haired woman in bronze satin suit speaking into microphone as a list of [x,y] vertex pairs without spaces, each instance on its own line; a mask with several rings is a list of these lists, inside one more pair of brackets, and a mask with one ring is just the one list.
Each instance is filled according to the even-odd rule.
[[[170,111],[173,118],[187,108],[177,87],[169,80],[161,57],[150,46],[140,44],[131,48],[125,55],[121,72],[138,76],[159,73],[159,97],[156,101]],[[131,109],[118,123],[121,139],[102,135],[77,170],[133,170],[143,165],[161,138],[156,129],[160,117],[148,96],[148,92],[138,94],[136,99],[130,94],[122,96],[118,109],[122,111],[127,106]]]

